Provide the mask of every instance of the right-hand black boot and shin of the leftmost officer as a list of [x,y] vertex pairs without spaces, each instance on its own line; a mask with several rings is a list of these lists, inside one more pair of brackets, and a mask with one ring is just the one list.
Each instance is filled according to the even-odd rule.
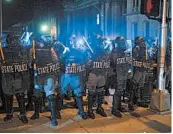
[[24,93],[16,94],[16,98],[20,108],[20,120],[24,123],[28,123],[28,119],[26,117],[26,107],[25,107],[25,98]]

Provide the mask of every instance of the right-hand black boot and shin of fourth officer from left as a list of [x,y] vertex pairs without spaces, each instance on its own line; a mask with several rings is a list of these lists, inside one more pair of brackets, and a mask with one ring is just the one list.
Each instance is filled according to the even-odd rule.
[[103,117],[107,117],[104,109],[102,108],[103,100],[104,100],[104,91],[99,91],[98,92],[98,101],[97,101],[98,108],[96,110],[96,113],[100,114]]

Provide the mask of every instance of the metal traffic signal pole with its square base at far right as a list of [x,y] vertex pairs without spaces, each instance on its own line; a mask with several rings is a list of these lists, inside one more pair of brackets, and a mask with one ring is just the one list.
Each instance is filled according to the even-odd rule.
[[153,90],[150,109],[164,114],[170,112],[170,94],[165,89],[165,55],[167,45],[167,0],[163,0],[161,45],[158,63],[158,89]]

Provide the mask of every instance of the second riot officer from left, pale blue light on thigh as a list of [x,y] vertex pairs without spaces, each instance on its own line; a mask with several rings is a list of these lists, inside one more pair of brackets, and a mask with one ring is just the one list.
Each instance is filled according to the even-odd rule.
[[30,50],[30,62],[32,62],[33,55],[35,55],[34,62],[36,65],[36,68],[34,67],[35,113],[31,119],[34,120],[39,118],[40,102],[43,97],[43,92],[45,92],[51,111],[50,125],[57,126],[57,92],[55,89],[58,86],[57,75],[60,71],[58,57],[54,49],[46,46],[45,42],[39,38],[36,40],[35,50],[33,48]]

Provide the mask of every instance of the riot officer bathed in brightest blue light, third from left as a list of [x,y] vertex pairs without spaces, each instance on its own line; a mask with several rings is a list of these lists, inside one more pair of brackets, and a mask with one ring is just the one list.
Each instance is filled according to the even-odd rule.
[[78,115],[83,119],[87,119],[87,115],[83,109],[83,79],[85,73],[85,53],[82,52],[77,44],[76,37],[70,41],[69,51],[64,54],[64,72],[61,76],[61,93],[67,95],[74,94],[76,105],[78,107]]

